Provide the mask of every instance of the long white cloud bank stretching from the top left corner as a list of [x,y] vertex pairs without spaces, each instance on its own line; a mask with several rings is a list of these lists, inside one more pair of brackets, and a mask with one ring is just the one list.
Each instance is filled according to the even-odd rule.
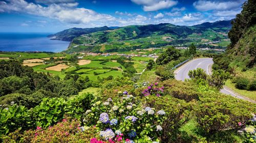
[[90,9],[62,7],[61,5],[52,4],[43,7],[34,3],[28,3],[24,0],[9,0],[9,3],[0,3],[2,12],[18,12],[31,15],[44,16],[58,19],[67,23],[89,23],[93,21],[106,22],[114,21],[115,17],[108,14],[100,14]]

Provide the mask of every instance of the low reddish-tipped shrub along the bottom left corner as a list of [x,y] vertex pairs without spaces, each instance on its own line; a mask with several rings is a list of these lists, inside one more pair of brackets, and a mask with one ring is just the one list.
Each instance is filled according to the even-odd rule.
[[[28,130],[25,132],[16,130],[15,132],[4,137],[4,142],[90,142],[92,136],[97,137],[96,128],[80,127],[80,122],[76,120],[63,119],[47,129],[37,127],[36,130]],[[19,141],[20,140],[20,141]]]

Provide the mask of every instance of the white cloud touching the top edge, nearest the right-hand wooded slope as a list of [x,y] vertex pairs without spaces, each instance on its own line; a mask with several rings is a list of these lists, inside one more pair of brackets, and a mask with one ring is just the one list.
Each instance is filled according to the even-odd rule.
[[235,8],[240,8],[245,0],[239,1],[205,1],[199,0],[193,3],[193,6],[199,11],[210,11],[210,10],[231,10]]

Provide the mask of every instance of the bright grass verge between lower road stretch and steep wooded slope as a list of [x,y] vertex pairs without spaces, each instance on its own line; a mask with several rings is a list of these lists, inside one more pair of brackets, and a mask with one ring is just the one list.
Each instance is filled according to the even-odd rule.
[[235,87],[235,83],[231,83],[230,80],[227,80],[225,85],[234,92],[256,101],[256,91],[239,90]]

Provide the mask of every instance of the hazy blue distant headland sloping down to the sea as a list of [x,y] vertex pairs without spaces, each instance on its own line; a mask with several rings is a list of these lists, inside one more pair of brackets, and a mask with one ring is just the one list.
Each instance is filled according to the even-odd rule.
[[109,28],[107,26],[95,28],[70,28],[68,30],[61,31],[53,35],[49,35],[48,37],[51,40],[72,41],[75,37],[78,37],[83,34],[89,34],[99,31],[108,31],[112,29],[113,28]]

